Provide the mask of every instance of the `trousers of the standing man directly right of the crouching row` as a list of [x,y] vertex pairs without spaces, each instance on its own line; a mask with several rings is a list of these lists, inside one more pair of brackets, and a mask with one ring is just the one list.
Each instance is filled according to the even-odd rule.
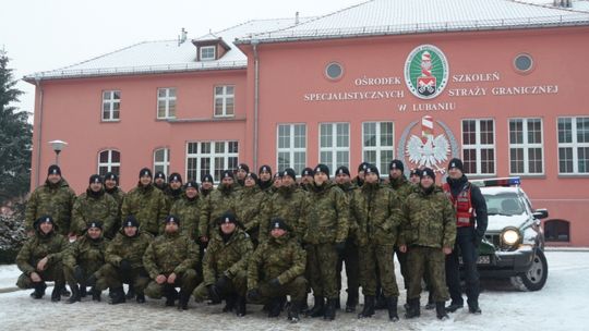
[[337,298],[337,252],[334,244],[317,244],[306,246],[306,274],[311,281],[313,295],[326,298]]

